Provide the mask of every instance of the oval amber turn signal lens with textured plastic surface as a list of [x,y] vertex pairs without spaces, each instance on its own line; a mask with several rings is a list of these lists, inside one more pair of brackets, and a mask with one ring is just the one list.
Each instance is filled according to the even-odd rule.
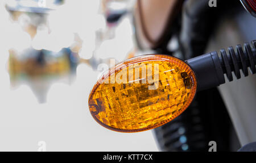
[[192,69],[175,57],[144,55],[110,69],[93,87],[89,109],[102,126],[138,132],[170,122],[196,93]]

